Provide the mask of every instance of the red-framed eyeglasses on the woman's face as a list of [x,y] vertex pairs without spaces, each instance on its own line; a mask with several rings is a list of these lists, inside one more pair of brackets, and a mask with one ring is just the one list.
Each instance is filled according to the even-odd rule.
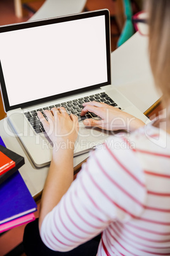
[[145,11],[140,11],[133,15],[134,29],[139,31],[142,36],[148,36],[148,18]]

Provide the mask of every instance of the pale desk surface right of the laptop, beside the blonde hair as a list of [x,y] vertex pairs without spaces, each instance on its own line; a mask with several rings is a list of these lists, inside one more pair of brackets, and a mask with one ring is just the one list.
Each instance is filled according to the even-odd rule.
[[162,96],[155,89],[148,37],[138,32],[111,54],[112,85],[145,113]]

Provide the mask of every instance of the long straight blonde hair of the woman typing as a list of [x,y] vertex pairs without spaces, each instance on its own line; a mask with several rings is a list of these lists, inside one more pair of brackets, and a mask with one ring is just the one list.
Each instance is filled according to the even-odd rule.
[[150,65],[155,84],[170,103],[170,0],[147,0]]

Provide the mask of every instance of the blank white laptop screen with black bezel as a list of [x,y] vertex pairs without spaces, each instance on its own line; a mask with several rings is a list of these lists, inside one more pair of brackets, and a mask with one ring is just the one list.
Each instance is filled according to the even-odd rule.
[[110,83],[108,11],[0,27],[6,110]]

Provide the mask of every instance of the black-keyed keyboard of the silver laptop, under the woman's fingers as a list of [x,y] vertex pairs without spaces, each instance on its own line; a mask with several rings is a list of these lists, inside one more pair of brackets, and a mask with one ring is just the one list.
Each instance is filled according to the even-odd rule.
[[[116,106],[117,108],[119,108],[119,106],[117,106],[117,104],[105,92],[100,92],[98,94],[93,94],[91,96],[74,99],[73,101],[67,101],[64,103],[55,104],[55,105],[51,105],[48,107],[39,108],[37,110],[25,112],[24,114],[25,114],[25,117],[27,118],[27,120],[29,120],[30,125],[32,125],[32,128],[36,131],[37,134],[39,134],[41,132],[44,132],[45,130],[44,130],[44,127],[43,127],[42,123],[40,122],[39,118],[37,117],[37,111],[41,111],[42,115],[44,115],[46,120],[48,120],[48,118],[46,117],[46,115],[44,114],[43,111],[51,110],[51,108],[54,108],[54,107],[59,108],[60,106],[62,106],[67,110],[67,113],[69,113],[69,115],[71,113],[76,115],[78,117],[79,122],[81,122],[82,120],[84,120],[86,118],[97,117],[97,115],[95,115],[95,113],[91,113],[91,112],[88,112],[88,113],[86,113],[86,115],[81,117],[81,111],[82,111],[82,108],[84,108],[84,106],[82,106],[82,103],[87,103],[89,101],[98,101],[98,102],[106,103],[110,106]],[[119,108],[119,109],[121,110],[121,108]]]

